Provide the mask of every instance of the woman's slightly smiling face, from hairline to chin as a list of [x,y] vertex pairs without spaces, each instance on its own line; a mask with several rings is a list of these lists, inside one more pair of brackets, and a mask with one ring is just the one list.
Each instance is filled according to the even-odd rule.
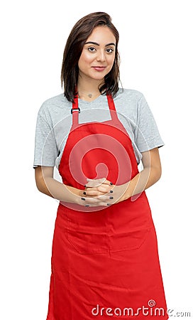
[[79,77],[103,80],[114,65],[116,38],[107,26],[94,28],[79,58]]

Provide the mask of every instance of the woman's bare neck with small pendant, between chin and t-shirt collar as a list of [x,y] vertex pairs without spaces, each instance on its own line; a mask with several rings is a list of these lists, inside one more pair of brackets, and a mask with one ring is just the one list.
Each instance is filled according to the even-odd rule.
[[79,78],[77,83],[77,90],[79,98],[82,100],[92,101],[101,95],[99,87],[101,80],[90,79],[89,81],[83,78]]

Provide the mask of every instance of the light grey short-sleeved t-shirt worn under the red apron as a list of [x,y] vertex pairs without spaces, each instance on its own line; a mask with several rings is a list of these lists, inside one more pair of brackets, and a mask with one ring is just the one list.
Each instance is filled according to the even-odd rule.
[[[136,160],[142,152],[163,146],[158,127],[141,92],[119,89],[114,104],[118,119],[128,132]],[[35,132],[33,166],[59,166],[70,127],[72,103],[63,94],[51,97],[40,107]],[[87,102],[79,99],[79,123],[104,122],[111,119],[106,95]]]

